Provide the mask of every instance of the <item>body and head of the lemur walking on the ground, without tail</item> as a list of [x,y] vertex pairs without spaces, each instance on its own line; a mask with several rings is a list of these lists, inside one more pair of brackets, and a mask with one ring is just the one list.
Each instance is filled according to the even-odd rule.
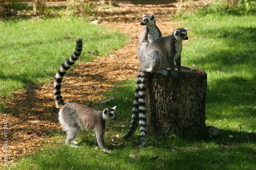
[[[116,106],[103,111],[95,111],[79,103],[67,103],[59,111],[59,123],[67,131],[66,144],[74,141],[82,131],[95,133],[95,145],[106,149],[104,141],[105,129],[111,119],[116,119]],[[75,145],[71,145],[76,147]]]

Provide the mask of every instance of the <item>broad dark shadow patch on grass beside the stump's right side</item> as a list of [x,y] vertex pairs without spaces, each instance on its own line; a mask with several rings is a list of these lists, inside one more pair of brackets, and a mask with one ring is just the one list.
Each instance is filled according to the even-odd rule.
[[250,106],[245,112],[253,114],[253,105],[255,99],[256,76],[252,79],[245,79],[241,76],[232,76],[215,79],[207,90],[207,104],[230,105],[230,106]]

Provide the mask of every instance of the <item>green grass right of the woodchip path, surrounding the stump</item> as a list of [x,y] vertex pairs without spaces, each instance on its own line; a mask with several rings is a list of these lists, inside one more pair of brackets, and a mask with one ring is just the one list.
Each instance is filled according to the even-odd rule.
[[[95,150],[91,133],[82,134],[76,149],[64,144],[65,134],[57,133],[50,138],[51,142],[40,148],[41,151],[19,158],[15,167],[7,168],[256,169],[254,20],[253,15],[216,14],[191,15],[181,20],[184,28],[190,27],[190,40],[184,42],[182,65],[207,72],[206,125],[217,127],[219,136],[202,139],[147,136],[147,147],[141,148],[137,130],[132,138],[123,140],[121,136],[131,121],[136,81],[113,82],[113,89],[103,95],[106,99],[115,99],[92,106],[102,109],[118,104],[118,119],[105,135],[111,153]],[[70,45],[71,54],[75,39]],[[66,53],[63,55],[66,58]]]

